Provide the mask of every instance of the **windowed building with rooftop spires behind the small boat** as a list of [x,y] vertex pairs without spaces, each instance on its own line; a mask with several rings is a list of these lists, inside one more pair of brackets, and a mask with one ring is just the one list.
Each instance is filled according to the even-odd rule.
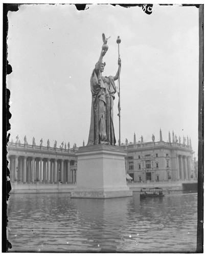
[[162,139],[162,131],[159,132],[160,140],[155,142],[152,135],[151,142],[141,141],[136,143],[134,134],[133,143],[126,141],[121,147],[127,152],[125,166],[126,173],[133,181],[167,181],[188,180],[197,178],[196,168],[193,161],[193,150],[191,139],[187,136],[177,139],[174,132],[169,132],[169,141]]

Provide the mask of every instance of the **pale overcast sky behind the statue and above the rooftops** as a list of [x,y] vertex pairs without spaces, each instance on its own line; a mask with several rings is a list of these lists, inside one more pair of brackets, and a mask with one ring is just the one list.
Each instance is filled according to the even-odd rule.
[[[7,76],[10,138],[21,143],[57,146],[88,140],[91,111],[90,76],[108,39],[103,75],[116,75],[118,44],[122,70],[121,142],[143,136],[145,142],[189,136],[198,149],[198,9],[154,5],[147,15],[140,7],[87,5],[21,5],[8,13]],[[117,85],[117,81],[116,81]],[[118,95],[114,125],[119,139]]]

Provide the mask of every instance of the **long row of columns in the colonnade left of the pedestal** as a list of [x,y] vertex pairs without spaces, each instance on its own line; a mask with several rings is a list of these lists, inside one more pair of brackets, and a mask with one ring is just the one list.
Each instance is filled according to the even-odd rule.
[[77,169],[70,168],[70,160],[10,157],[10,179],[20,182],[76,182]]

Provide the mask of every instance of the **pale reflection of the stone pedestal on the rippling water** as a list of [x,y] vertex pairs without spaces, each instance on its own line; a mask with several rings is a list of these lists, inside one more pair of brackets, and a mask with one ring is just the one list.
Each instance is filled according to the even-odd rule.
[[[81,226],[89,223],[81,232],[87,240],[87,248],[96,251],[117,251],[127,226],[127,205],[130,198],[109,200],[72,199],[79,209]],[[88,243],[89,241],[89,243]]]

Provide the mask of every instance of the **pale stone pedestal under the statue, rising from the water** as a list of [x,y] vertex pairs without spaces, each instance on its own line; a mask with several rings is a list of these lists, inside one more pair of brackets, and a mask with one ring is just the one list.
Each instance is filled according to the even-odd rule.
[[131,197],[126,184],[126,153],[118,146],[91,145],[79,147],[76,153],[77,188],[72,198]]

